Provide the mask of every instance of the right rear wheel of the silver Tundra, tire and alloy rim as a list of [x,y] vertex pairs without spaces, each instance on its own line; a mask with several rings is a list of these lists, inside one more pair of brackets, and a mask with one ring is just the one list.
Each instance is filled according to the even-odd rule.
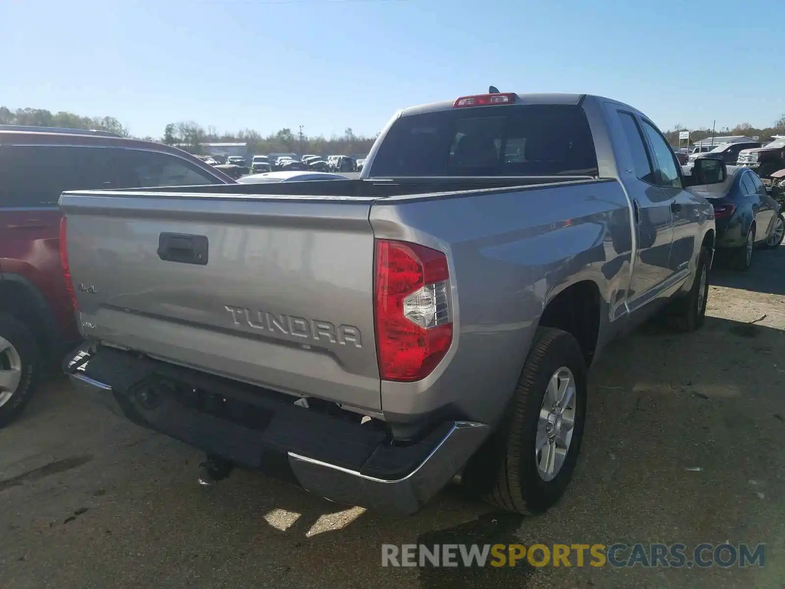
[[506,422],[467,464],[462,485],[519,514],[547,510],[566,491],[586,420],[586,364],[575,338],[540,327]]

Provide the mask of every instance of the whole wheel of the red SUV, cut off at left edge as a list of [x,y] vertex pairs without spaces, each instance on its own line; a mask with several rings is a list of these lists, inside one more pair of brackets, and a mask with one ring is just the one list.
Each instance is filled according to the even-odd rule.
[[11,423],[30,401],[40,370],[31,331],[12,316],[0,315],[0,427]]

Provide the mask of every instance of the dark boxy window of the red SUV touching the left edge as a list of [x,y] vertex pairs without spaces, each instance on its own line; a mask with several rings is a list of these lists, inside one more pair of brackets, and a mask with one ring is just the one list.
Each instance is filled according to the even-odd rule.
[[0,207],[55,207],[65,190],[115,186],[105,148],[0,147]]

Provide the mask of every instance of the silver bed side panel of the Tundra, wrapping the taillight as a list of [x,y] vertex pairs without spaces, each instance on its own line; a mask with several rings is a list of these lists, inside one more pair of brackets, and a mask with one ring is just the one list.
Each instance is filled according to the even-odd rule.
[[422,243],[446,252],[451,264],[453,344],[428,378],[382,382],[390,421],[446,406],[496,423],[546,302],[571,284],[591,280],[601,291],[600,345],[622,324],[632,238],[616,181],[396,197],[374,203],[371,225],[378,238]]

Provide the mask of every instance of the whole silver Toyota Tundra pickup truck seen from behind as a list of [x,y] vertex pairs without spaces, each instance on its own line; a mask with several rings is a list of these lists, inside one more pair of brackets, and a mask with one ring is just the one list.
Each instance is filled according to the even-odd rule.
[[568,486],[586,370],[706,311],[714,211],[641,112],[490,93],[398,112],[357,180],[65,192],[80,388],[232,466],[414,512]]

